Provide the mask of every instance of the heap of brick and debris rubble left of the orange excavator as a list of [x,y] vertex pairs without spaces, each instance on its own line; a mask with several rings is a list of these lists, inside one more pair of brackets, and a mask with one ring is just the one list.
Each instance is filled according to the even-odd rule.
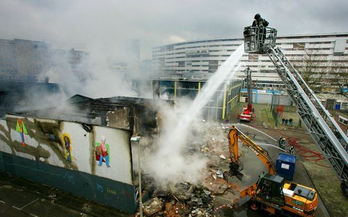
[[[199,184],[184,182],[161,189],[155,186],[155,180],[151,180],[150,177],[143,179],[143,182],[147,182],[143,186],[149,186],[151,183],[155,189],[152,199],[143,204],[144,216],[208,217],[219,216],[219,207],[233,209],[231,207],[234,189],[237,189],[237,186],[227,181],[226,174],[230,163],[227,139],[229,128],[228,125],[200,128],[195,133],[200,138],[187,146],[184,155],[202,155],[208,159],[207,168],[202,171]],[[216,196],[225,196],[228,199],[216,202]],[[139,216],[139,213],[136,216]]]

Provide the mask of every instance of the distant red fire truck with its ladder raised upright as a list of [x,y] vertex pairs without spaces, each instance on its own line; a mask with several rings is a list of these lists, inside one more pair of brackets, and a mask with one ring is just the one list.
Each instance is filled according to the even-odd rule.
[[248,105],[243,108],[243,112],[240,115],[239,121],[251,121],[251,118],[253,117],[253,80],[251,78],[251,69],[248,67],[245,70],[246,78],[246,90],[247,90],[247,97],[248,97]]

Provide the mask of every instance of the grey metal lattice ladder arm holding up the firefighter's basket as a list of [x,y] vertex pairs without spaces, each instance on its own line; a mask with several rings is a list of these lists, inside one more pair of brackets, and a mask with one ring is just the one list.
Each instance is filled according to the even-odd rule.
[[347,136],[287,60],[283,51],[271,46],[267,46],[265,50],[276,66],[276,71],[311,137],[322,149],[340,180],[348,186],[348,155],[343,148],[348,143]]

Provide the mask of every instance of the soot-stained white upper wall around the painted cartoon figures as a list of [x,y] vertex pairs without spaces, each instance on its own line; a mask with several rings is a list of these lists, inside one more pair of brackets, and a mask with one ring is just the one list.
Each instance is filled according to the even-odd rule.
[[[28,134],[24,134],[24,147],[21,135],[15,130],[18,118],[22,119],[28,130]],[[49,123],[56,130],[42,132],[40,123]],[[65,158],[65,147],[61,139],[64,133],[69,134],[71,139],[72,162]],[[55,141],[49,139],[49,134],[54,134]],[[109,144],[110,167],[107,167],[105,162],[98,166],[95,160],[95,143],[100,143],[102,137],[106,139],[106,144]],[[0,151],[132,184],[129,137],[130,132],[127,130],[93,125],[91,132],[86,132],[80,123],[68,121],[58,122],[15,115],[7,115],[6,120],[0,119]]]

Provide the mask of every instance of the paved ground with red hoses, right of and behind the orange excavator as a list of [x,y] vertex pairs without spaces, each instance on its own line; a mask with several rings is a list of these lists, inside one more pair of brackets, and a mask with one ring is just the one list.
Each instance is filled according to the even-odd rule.
[[[230,116],[239,114],[244,106],[245,103],[238,103]],[[317,189],[322,200],[319,200],[315,216],[348,216],[348,198],[343,195],[340,189],[340,180],[323,157],[322,151],[311,139],[310,134],[305,128],[298,127],[299,117],[297,114],[295,112],[283,113],[283,116],[287,119],[290,119],[290,117],[294,119],[294,127],[282,124],[276,126],[269,111],[270,105],[256,104],[254,107],[256,119],[251,123],[247,123],[248,125],[262,130],[262,132],[266,132],[274,138],[283,136],[287,138],[288,142],[299,141],[295,147],[296,170],[293,181],[307,186],[314,186]],[[230,119],[230,122],[239,123],[235,119]],[[285,149],[288,150],[289,148],[290,145],[287,144]],[[279,151],[276,149],[269,149],[269,154],[274,160],[278,158],[278,153]]]

